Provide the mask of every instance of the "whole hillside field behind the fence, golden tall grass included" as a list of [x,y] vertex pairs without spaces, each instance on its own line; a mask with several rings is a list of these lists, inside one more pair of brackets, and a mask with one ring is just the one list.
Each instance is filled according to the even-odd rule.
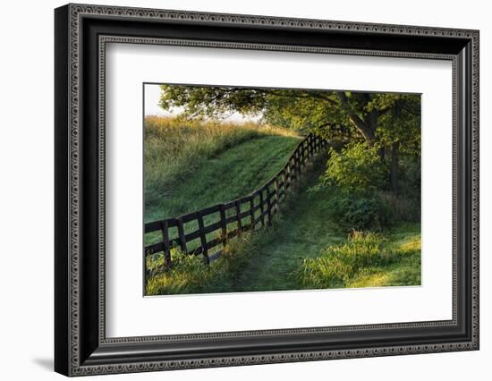
[[267,182],[301,137],[257,123],[145,120],[145,221],[246,195]]

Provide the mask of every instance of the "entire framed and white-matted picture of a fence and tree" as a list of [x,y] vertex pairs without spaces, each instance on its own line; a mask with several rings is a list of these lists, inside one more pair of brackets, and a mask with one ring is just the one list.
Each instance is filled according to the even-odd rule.
[[55,10],[55,370],[479,349],[479,31]]

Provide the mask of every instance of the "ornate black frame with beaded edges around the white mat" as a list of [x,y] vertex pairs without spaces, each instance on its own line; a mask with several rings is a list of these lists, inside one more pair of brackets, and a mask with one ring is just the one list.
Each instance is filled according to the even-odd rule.
[[[454,64],[454,318],[387,325],[106,338],[104,91],[101,89],[104,89],[105,44],[125,41],[451,60]],[[80,376],[478,349],[477,30],[86,4],[68,4],[55,10],[57,372]]]

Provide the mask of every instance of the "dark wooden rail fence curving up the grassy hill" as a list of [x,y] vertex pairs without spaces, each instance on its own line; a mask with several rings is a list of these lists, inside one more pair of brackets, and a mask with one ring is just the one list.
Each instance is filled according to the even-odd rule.
[[[145,233],[160,232],[161,239],[157,243],[145,247],[144,255],[164,253],[165,267],[172,266],[171,249],[179,247],[182,252],[191,255],[203,255],[209,264],[218,258],[221,250],[209,254],[214,248],[242,232],[255,229],[257,226],[272,224],[279,204],[285,199],[286,191],[297,182],[306,161],[327,145],[327,140],[310,133],[293,151],[284,167],[265,185],[242,199],[217,204],[212,207],[192,212],[175,218],[145,224]],[[216,215],[216,221],[206,224],[206,219]],[[186,233],[185,224],[198,226]],[[213,238],[210,239],[210,235]],[[195,241],[193,248],[190,243]],[[198,241],[198,245],[197,245]]]

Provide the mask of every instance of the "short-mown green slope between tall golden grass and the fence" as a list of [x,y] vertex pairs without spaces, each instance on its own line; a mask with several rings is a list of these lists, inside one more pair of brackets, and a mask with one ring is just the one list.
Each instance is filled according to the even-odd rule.
[[204,159],[196,170],[149,207],[146,221],[180,216],[249,194],[284,166],[300,140],[266,135],[242,141]]

